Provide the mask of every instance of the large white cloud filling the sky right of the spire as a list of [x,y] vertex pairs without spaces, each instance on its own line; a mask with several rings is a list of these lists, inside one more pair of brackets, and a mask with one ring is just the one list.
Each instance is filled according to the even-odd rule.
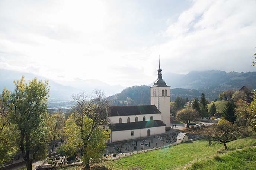
[[193,1],[170,24],[167,42],[151,49],[160,51],[163,70],[256,71],[250,66],[256,44],[256,1]]

